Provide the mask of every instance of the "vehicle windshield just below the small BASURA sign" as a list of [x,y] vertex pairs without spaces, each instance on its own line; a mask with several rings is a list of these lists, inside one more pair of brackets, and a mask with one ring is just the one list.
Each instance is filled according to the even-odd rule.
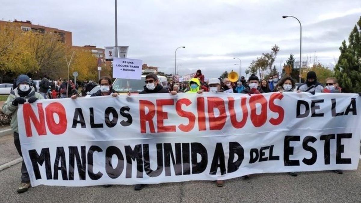
[[[144,90],[144,80],[145,78],[142,78],[140,80],[136,79],[122,79],[117,78],[113,83],[113,89],[116,92],[141,92]],[[128,81],[129,81],[129,90],[128,90]]]

